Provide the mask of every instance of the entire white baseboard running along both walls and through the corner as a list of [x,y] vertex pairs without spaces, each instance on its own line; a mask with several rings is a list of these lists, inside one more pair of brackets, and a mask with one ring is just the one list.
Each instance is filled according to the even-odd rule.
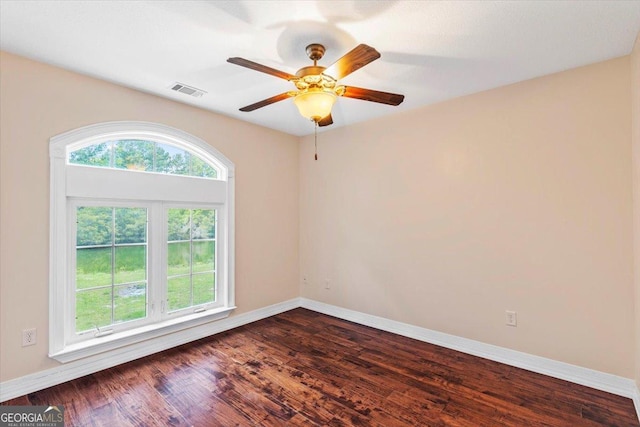
[[248,313],[187,329],[179,333],[145,341],[144,343],[116,350],[113,354],[110,353],[109,357],[104,357],[104,355],[92,356],[2,382],[0,383],[0,402],[130,362],[190,341],[237,328],[298,307],[628,397],[633,400],[636,412],[638,413],[638,419],[640,419],[640,389],[638,389],[636,383],[629,378],[509,350],[504,347],[485,344],[468,338],[461,338],[307,298],[294,298]]

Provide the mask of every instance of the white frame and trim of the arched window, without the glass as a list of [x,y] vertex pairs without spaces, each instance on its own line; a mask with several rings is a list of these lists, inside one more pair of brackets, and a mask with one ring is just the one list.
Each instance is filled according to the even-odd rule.
[[[67,161],[71,151],[117,139],[156,141],[185,149],[214,167],[218,177],[119,170]],[[49,155],[49,357],[69,362],[229,316],[235,309],[235,166],[228,158],[203,140],[179,129],[132,121],[99,123],[54,136],[49,142]],[[112,332],[85,340],[70,338],[75,335],[75,324],[70,321],[74,315],[70,310],[75,311],[75,305],[69,303],[75,298],[75,266],[71,252],[75,251],[75,223],[70,219],[75,216],[72,210],[78,201],[104,205],[139,203],[151,208],[148,215],[157,215],[157,218],[149,218],[147,256],[150,265],[162,265],[162,268],[149,270],[149,283],[152,280],[166,283],[166,277],[156,277],[166,273],[165,250],[158,250],[166,246],[166,242],[156,241],[153,246],[150,243],[166,236],[166,209],[175,206],[215,208],[218,215],[216,287],[219,290],[216,303],[204,307],[204,311],[198,306],[191,312],[181,310],[179,315],[155,316],[153,322],[141,322],[141,326],[134,329],[113,328]],[[151,297],[153,300],[148,298],[148,314],[151,314],[151,303],[158,301],[157,292]],[[159,310],[157,306],[153,309]]]

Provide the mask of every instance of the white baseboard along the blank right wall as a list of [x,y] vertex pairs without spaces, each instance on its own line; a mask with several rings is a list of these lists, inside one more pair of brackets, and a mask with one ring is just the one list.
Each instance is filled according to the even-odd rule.
[[426,328],[421,328],[383,317],[373,316],[359,311],[349,310],[335,305],[300,298],[301,307],[329,316],[338,317],[361,325],[391,332],[405,337],[450,348],[485,359],[494,360],[506,365],[548,375],[570,381],[572,383],[584,385],[613,393],[619,396],[628,397],[633,400],[638,419],[640,419],[640,391],[635,381],[617,375],[607,374],[593,369],[571,365],[569,363],[558,362],[545,357],[534,356],[504,347],[485,344],[468,338],[461,338],[455,335],[445,334]]

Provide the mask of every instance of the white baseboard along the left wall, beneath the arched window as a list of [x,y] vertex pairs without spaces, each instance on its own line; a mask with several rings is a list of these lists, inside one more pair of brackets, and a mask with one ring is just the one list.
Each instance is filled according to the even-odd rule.
[[230,316],[222,320],[117,349],[109,352],[108,357],[105,357],[104,354],[99,354],[5,381],[0,383],[0,402],[62,384],[63,382],[168,350],[191,341],[206,338],[297,307],[300,307],[300,299],[294,298],[248,313]]

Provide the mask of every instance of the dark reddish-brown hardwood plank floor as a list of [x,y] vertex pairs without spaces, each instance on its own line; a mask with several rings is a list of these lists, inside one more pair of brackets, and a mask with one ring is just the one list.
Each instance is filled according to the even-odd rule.
[[4,404],[67,426],[640,426],[630,399],[305,309]]

